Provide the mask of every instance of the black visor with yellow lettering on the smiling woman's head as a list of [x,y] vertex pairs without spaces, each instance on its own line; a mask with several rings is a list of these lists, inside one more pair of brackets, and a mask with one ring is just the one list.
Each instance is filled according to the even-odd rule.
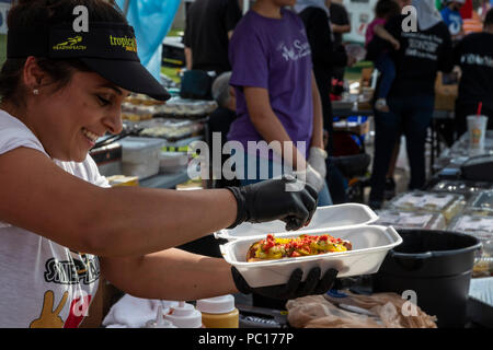
[[140,63],[134,28],[124,23],[91,23],[89,32],[71,24],[8,32],[7,57],[77,58],[104,79],[152,98],[170,98],[167,90]]

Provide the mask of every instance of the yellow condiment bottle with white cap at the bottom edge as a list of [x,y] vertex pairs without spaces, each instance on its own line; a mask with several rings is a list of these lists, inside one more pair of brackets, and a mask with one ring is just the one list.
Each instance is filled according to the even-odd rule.
[[239,328],[240,314],[230,294],[197,300],[197,308],[206,328]]

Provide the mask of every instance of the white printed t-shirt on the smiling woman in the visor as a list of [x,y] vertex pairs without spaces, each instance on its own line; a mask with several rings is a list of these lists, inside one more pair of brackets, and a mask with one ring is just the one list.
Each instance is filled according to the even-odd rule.
[[[23,122],[0,110],[0,155],[19,147],[48,156]],[[54,162],[89,183],[110,187],[89,155],[82,163]],[[0,328],[78,327],[88,315],[99,278],[98,257],[0,222]]]

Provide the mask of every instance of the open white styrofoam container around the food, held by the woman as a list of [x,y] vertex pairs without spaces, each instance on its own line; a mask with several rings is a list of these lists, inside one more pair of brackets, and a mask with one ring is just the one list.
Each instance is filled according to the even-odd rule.
[[[225,260],[233,265],[252,288],[286,283],[290,273],[300,268],[303,278],[313,267],[324,273],[334,268],[337,278],[371,275],[378,271],[387,253],[402,243],[393,228],[372,225],[377,214],[367,206],[347,203],[318,208],[310,224],[296,232],[286,232],[285,223],[243,223],[232,230],[216,232],[216,237],[229,242],[220,246]],[[300,234],[322,235],[347,240],[353,249],[314,256],[288,259],[246,262],[246,252],[251,244],[265,238],[267,234],[276,237],[297,237]]]

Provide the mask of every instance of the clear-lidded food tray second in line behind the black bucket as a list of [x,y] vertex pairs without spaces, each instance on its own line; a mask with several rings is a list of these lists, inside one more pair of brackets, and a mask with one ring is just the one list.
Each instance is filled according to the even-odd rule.
[[465,206],[466,198],[462,195],[416,190],[399,195],[386,206],[386,209],[416,212],[440,212],[445,220],[449,222],[463,209]]

